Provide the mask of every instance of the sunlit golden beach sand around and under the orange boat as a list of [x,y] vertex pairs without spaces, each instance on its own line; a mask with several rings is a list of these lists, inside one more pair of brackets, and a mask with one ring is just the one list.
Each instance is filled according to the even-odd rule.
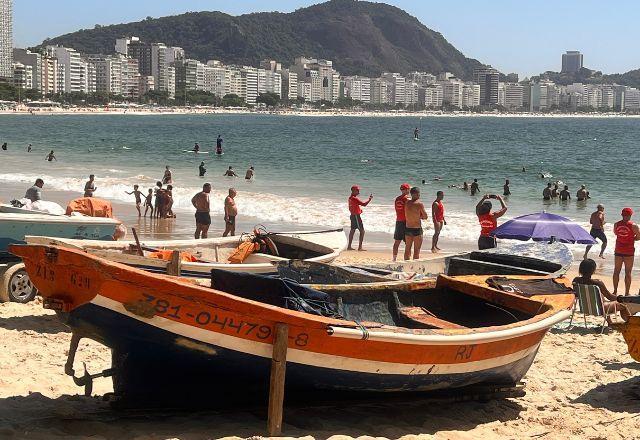
[[[366,255],[366,256],[365,256]],[[384,254],[346,252],[341,262],[374,261]],[[386,258],[386,257],[385,257]],[[635,283],[637,291],[640,283]],[[348,439],[632,439],[640,429],[640,364],[617,332],[562,323],[547,335],[526,376],[527,394],[490,402],[392,401],[285,409],[283,435]],[[595,321],[590,320],[595,326]],[[110,379],[94,383],[94,396],[64,375],[71,334],[37,300],[0,304],[0,437],[15,439],[208,439],[265,433],[265,402],[247,395],[242,408],[183,413],[113,411],[102,399]],[[110,364],[107,348],[83,340],[75,369]]]

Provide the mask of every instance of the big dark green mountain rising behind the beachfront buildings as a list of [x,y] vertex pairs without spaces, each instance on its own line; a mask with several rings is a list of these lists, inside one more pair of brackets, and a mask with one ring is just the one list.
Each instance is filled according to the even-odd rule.
[[403,10],[382,3],[332,0],[292,13],[231,16],[189,12],[134,23],[96,25],[42,44],[61,44],[84,53],[112,53],[116,38],[138,36],[184,48],[187,57],[257,65],[295,57],[333,60],[343,75],[384,72],[452,72],[470,79],[477,60],[466,58],[438,32]]

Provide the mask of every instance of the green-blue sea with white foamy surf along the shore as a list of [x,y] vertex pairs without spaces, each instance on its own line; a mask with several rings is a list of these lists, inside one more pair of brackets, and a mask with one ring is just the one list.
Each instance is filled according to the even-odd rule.
[[[415,127],[419,141],[413,140]],[[213,154],[218,134],[221,157]],[[506,218],[546,210],[586,225],[603,203],[613,222],[622,207],[640,208],[633,183],[639,140],[635,118],[0,115],[0,142],[9,146],[0,151],[0,181],[28,186],[42,177],[45,190],[81,191],[93,173],[97,197],[132,202],[125,191],[139,184],[146,193],[169,165],[178,211],[192,210],[191,197],[207,181],[214,214],[222,213],[222,200],[235,186],[241,216],[301,227],[347,226],[349,188],[358,184],[363,197],[374,196],[363,214],[365,227],[384,237],[393,231],[398,187],[408,182],[421,188],[427,206],[443,190],[443,239],[470,244],[479,232],[478,197],[450,185],[477,178],[480,194],[502,194],[509,179]],[[209,154],[183,151],[195,142]],[[49,150],[57,162],[45,161]],[[223,177],[228,166],[240,178]],[[249,166],[256,170],[252,182],[244,180]],[[546,183],[558,180],[574,199],[543,202]],[[575,201],[581,184],[591,193],[587,203]]]

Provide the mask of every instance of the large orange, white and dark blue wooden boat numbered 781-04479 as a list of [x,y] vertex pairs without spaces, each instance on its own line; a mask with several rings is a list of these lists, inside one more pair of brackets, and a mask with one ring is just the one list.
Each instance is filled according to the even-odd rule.
[[225,384],[264,385],[279,323],[289,328],[292,390],[512,385],[574,300],[564,287],[527,297],[491,288],[484,276],[317,291],[214,271],[216,285],[220,273],[235,276],[225,292],[69,248],[11,251],[24,260],[45,307],[58,310],[76,336],[113,349],[110,373],[123,399],[223,399]]

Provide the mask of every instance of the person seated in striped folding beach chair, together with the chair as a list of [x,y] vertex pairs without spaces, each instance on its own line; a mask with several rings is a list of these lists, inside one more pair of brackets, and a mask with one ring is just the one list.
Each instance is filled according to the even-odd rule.
[[[577,302],[580,303],[580,311],[585,315],[585,327],[586,315],[603,316],[605,321],[602,324],[602,330],[604,330],[605,322],[612,324],[610,315],[620,312],[620,316],[626,321],[629,318],[629,312],[617,301],[616,295],[609,292],[601,280],[592,278],[596,267],[596,262],[591,258],[582,260],[578,268],[580,276],[573,279],[573,286],[578,297]],[[574,305],[574,313],[575,309]],[[573,320],[573,314],[571,320]]]

